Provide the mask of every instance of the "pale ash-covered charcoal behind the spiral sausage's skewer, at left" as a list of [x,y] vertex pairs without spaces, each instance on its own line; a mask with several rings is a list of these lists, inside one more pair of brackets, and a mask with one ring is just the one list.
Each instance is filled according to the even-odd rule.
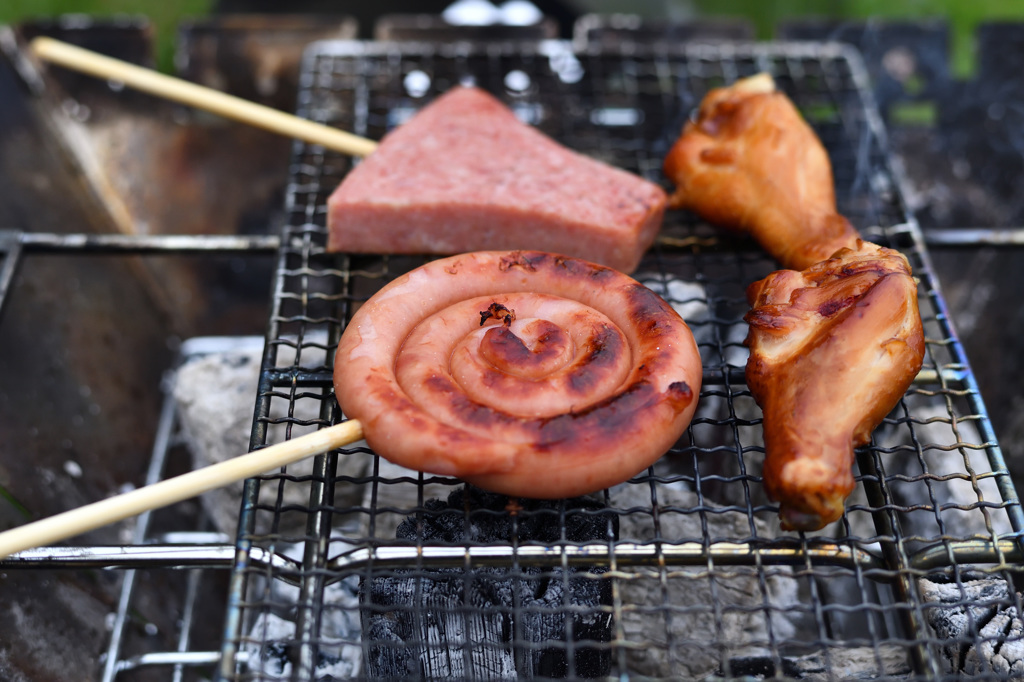
[[[182,431],[193,456],[193,467],[201,468],[244,455],[249,451],[249,439],[253,425],[253,411],[256,402],[262,345],[240,343],[237,347],[216,350],[216,344],[200,344],[201,353],[187,355],[173,380],[173,396],[176,400]],[[284,410],[285,400],[274,398],[271,402],[271,417]],[[313,420],[319,417],[318,399],[298,399],[295,401],[294,417]],[[312,430],[306,427],[305,430]],[[296,429],[292,437],[297,437]],[[281,442],[286,434],[284,426],[271,426],[267,442]],[[339,473],[360,476],[366,470],[369,458],[339,458]],[[289,473],[308,473],[310,461],[289,467]],[[273,473],[273,472],[268,472]],[[243,481],[202,496],[202,504],[221,532],[237,530],[241,508]],[[260,489],[260,504],[275,505],[279,486],[283,495],[282,504],[306,508],[309,506],[309,482],[275,480],[263,481]],[[339,486],[343,493],[354,486]],[[358,498],[353,503],[357,502]],[[344,499],[339,503],[344,504]],[[257,515],[257,521],[266,523],[268,513]],[[285,535],[301,535],[305,526],[304,513],[289,513],[282,516],[280,531]],[[257,528],[257,532],[266,528]]]

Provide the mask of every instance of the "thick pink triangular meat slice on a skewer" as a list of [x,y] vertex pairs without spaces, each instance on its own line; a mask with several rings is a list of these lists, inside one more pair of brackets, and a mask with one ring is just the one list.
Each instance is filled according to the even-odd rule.
[[458,87],[386,135],[338,186],[328,249],[537,249],[630,272],[666,202],[652,182],[565,148],[480,89]]

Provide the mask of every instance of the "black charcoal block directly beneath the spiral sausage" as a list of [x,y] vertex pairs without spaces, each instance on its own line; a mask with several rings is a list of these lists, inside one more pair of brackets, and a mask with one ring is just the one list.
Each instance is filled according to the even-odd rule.
[[[600,513],[603,505],[587,498],[510,500],[466,486],[453,491],[446,502],[430,500],[424,507],[424,513],[398,525],[398,539],[439,545],[552,545],[617,536],[615,518]],[[367,677],[606,676],[609,651],[593,646],[611,639],[610,584],[595,578],[602,572],[596,566],[474,566],[469,571],[399,570],[365,581]]]

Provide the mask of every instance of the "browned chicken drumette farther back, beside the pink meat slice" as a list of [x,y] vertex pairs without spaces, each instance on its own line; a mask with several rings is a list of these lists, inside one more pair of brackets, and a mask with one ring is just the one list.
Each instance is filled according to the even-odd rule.
[[768,74],[712,90],[665,160],[674,208],[750,232],[783,267],[803,269],[857,230],[837,213],[831,165]]

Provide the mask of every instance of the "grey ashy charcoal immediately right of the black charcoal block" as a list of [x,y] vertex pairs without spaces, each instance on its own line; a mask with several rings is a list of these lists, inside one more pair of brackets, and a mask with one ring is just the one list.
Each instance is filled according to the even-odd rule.
[[[671,485],[658,488],[657,495],[663,506],[692,508],[699,504],[696,494]],[[620,485],[611,493],[611,505],[616,509],[649,506],[650,491],[644,485]],[[751,536],[744,514],[705,514],[703,519],[707,532],[713,538]],[[663,514],[660,536],[672,540],[698,539],[705,534],[701,522],[697,514]],[[773,536],[767,523],[755,519],[755,524],[758,537]],[[622,542],[653,539],[649,516],[625,514],[620,519]],[[656,572],[642,569],[634,571],[636,578],[620,581],[623,603],[641,607],[626,609],[621,623],[627,641],[640,645],[627,650],[631,672],[671,679],[701,679],[719,671],[723,657],[765,655],[769,652],[768,642],[781,642],[795,635],[796,627],[787,610],[798,603],[798,584],[787,567],[773,569],[765,578],[767,594],[754,568],[720,568],[714,588],[706,577],[707,566],[674,566],[672,570],[671,580],[664,585]],[[671,621],[659,612],[652,614],[642,609],[663,603],[673,608]],[[672,650],[670,641],[675,643]]]

